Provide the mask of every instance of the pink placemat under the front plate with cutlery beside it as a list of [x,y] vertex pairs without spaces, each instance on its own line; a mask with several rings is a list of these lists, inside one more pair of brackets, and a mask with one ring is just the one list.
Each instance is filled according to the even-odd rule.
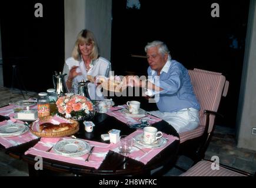
[[71,137],[64,137],[64,138],[63,137],[62,138],[42,137],[41,140],[34,147],[31,147],[28,151],[25,152],[25,155],[31,154],[34,156],[41,156],[48,159],[54,159],[62,162],[79,164],[82,166],[94,167],[95,169],[98,169],[108,154],[109,146],[111,146],[111,145],[108,145],[107,143],[86,140],[89,142],[89,145],[95,146],[95,147],[91,156],[89,157],[89,161],[85,162],[85,159],[87,158],[88,154],[85,154],[79,157],[65,157],[65,156],[56,154],[54,152],[54,149],[51,149],[49,152],[46,152],[46,150],[54,146],[55,143],[59,141],[59,139],[71,139]]

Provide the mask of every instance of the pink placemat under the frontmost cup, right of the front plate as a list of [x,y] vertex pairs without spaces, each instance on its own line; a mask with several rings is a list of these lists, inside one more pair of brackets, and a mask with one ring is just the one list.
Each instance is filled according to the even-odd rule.
[[[132,138],[132,137],[137,136],[142,133],[143,133],[142,130],[136,130],[135,132],[131,133],[131,135],[129,135],[128,137]],[[147,148],[141,147],[141,149],[144,152],[142,152],[142,150],[138,149],[137,147],[132,147],[132,152],[131,152],[131,154],[128,155],[128,157],[130,157],[131,159],[138,160],[139,162],[142,162],[144,164],[147,164],[149,162],[149,160],[151,160],[153,157],[158,155],[158,153],[160,153],[162,150],[164,150],[172,142],[174,142],[175,140],[179,140],[178,137],[175,137],[172,135],[167,135],[165,133],[163,134],[163,136],[167,139],[167,143],[164,147],[161,147],[159,149],[147,149]],[[119,143],[112,145],[111,150],[118,153],[119,152],[118,146],[119,146]]]

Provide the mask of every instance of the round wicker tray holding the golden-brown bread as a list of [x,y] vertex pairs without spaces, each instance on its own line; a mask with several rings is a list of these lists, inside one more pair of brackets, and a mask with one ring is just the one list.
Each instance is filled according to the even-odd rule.
[[[40,117],[41,122],[49,122],[49,119],[51,119],[52,116],[45,116],[45,117]],[[72,127],[71,129],[64,130],[61,132],[54,132],[54,133],[45,133],[45,132],[36,132],[35,130],[32,129],[32,125],[29,126],[29,130],[36,136],[39,137],[62,137],[62,136],[69,136],[69,135],[74,135],[75,133],[78,132],[79,130],[79,123],[76,120],[69,119],[69,122],[75,123],[75,126]]]

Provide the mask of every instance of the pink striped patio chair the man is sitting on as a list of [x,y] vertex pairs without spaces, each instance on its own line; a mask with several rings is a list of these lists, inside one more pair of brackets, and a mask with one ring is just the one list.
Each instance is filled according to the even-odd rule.
[[188,156],[195,164],[204,159],[214,130],[215,115],[220,115],[217,110],[221,97],[227,95],[229,82],[218,72],[194,69],[188,70],[188,73],[201,105],[200,123],[197,129],[179,134],[179,155]]

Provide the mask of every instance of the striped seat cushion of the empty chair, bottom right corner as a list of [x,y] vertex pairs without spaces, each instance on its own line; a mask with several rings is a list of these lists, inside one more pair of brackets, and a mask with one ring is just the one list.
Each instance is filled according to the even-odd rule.
[[212,170],[211,164],[208,160],[201,160],[180,176],[245,176],[221,166],[219,170]]

